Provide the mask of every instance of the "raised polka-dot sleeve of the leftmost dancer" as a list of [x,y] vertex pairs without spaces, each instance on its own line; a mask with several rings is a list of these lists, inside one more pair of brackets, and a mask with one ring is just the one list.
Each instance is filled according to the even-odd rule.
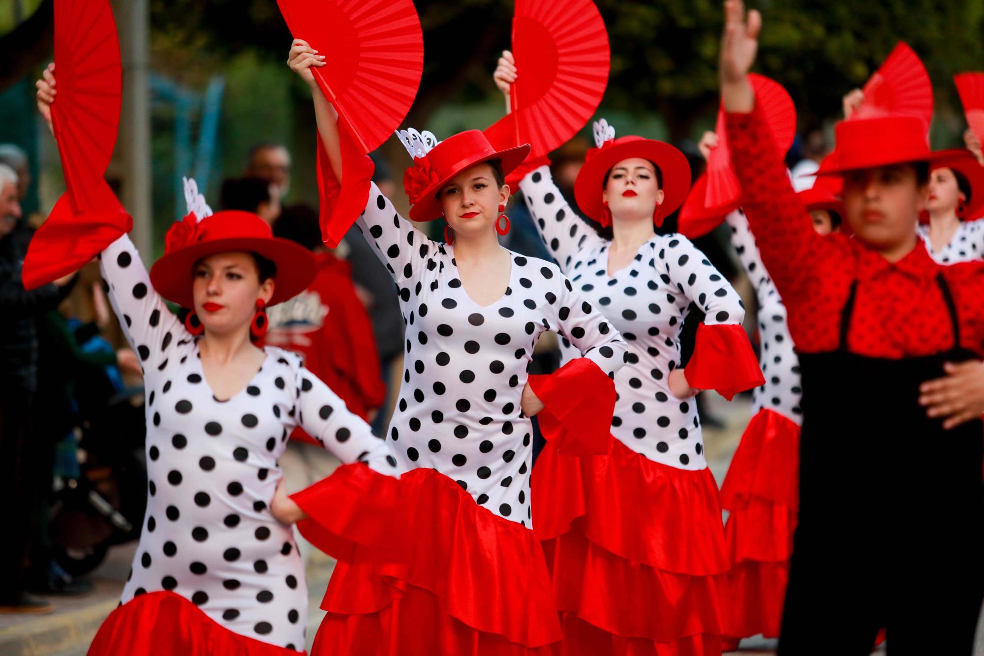
[[162,370],[167,365],[168,347],[188,338],[188,331],[154,291],[128,235],[102,251],[99,269],[108,287],[109,302],[145,372]]

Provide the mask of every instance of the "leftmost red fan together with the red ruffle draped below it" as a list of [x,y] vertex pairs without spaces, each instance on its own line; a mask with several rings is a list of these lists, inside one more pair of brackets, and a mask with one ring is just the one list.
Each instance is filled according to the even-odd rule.
[[51,122],[68,192],[31,239],[24,285],[81,268],[133,221],[103,179],[119,128],[122,68],[109,0],[55,0]]

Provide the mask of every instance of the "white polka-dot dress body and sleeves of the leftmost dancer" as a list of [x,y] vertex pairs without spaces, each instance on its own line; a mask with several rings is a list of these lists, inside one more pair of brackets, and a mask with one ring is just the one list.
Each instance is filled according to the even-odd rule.
[[215,398],[197,341],[154,292],[129,237],[102,252],[101,269],[147,394],[147,516],[122,603],[172,591],[230,631],[303,650],[304,568],[290,527],[268,508],[287,435],[301,426],[342,462],[389,475],[398,472],[394,455],[296,356],[274,347],[244,389]]

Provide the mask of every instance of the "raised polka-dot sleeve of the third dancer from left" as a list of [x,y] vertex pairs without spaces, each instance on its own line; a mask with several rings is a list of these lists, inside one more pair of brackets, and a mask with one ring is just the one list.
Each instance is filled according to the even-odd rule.
[[520,182],[520,189],[543,243],[564,271],[571,272],[579,250],[601,244],[598,233],[571,209],[554,184],[550,166],[530,171]]

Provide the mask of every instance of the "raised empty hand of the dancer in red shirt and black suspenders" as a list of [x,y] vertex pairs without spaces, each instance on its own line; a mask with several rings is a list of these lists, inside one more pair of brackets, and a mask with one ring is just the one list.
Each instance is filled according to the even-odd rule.
[[755,108],[748,72],[759,52],[761,31],[762,15],[758,11],[753,9],[746,16],[745,3],[725,0],[720,56],[721,103],[725,111],[748,113]]

